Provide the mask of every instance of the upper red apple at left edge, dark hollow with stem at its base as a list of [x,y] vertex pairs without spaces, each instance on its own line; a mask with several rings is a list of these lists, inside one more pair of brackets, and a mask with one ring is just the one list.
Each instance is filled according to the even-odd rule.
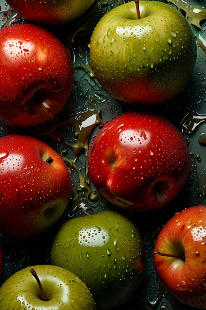
[[11,126],[52,120],[73,88],[73,64],[63,43],[42,27],[9,26],[0,30],[0,61],[0,119]]

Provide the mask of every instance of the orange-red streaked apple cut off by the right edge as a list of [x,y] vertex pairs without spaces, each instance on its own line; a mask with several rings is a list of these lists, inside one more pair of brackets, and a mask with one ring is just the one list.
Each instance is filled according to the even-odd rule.
[[206,309],[206,206],[176,213],[160,231],[154,253],[184,254],[185,259],[154,254],[156,271],[183,304]]

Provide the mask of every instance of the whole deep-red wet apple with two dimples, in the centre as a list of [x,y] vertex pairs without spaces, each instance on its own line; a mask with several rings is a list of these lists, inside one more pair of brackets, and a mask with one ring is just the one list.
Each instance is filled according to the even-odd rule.
[[151,211],[186,183],[191,158],[183,135],[167,119],[126,112],[107,122],[89,147],[89,175],[112,204]]

